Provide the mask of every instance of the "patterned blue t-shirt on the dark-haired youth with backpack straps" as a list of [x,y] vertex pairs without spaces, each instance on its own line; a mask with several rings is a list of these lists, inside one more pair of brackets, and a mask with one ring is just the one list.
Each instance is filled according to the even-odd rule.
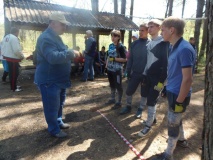
[[[116,46],[112,43],[109,45],[108,56],[117,58],[126,58],[125,49],[122,44],[118,47],[119,53],[116,51]],[[122,69],[122,63],[108,61],[107,70],[116,72]]]

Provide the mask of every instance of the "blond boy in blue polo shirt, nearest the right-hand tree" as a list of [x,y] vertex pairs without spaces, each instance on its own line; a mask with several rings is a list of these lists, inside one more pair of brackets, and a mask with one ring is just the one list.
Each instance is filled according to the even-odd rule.
[[166,150],[153,160],[172,160],[176,145],[188,147],[184,136],[182,115],[190,103],[195,66],[195,50],[183,39],[185,23],[168,17],[162,23],[162,36],[172,45],[168,59],[166,96],[168,100],[168,142]]

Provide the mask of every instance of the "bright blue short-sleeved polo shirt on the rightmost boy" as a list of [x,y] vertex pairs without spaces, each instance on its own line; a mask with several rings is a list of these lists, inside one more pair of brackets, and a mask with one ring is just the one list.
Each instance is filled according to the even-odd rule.
[[[179,94],[183,79],[182,68],[191,67],[194,71],[195,57],[195,50],[190,43],[180,38],[173,46],[168,59],[167,91]],[[188,96],[190,94],[191,89]]]

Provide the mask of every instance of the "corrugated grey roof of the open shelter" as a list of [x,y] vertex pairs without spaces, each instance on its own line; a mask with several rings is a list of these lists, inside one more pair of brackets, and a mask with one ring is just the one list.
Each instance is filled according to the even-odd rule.
[[10,22],[48,24],[52,12],[62,12],[71,27],[138,30],[129,18],[113,13],[98,12],[30,0],[4,0],[5,18]]

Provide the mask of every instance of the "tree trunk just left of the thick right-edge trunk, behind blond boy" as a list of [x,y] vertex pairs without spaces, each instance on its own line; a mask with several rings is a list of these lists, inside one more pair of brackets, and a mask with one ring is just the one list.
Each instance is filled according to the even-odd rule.
[[[203,6],[204,6],[204,0],[197,0],[196,18],[201,18],[203,16]],[[195,21],[194,38],[195,38],[195,46],[197,48],[198,53],[199,53],[199,37],[200,37],[201,24],[202,24],[201,19],[197,19]]]

